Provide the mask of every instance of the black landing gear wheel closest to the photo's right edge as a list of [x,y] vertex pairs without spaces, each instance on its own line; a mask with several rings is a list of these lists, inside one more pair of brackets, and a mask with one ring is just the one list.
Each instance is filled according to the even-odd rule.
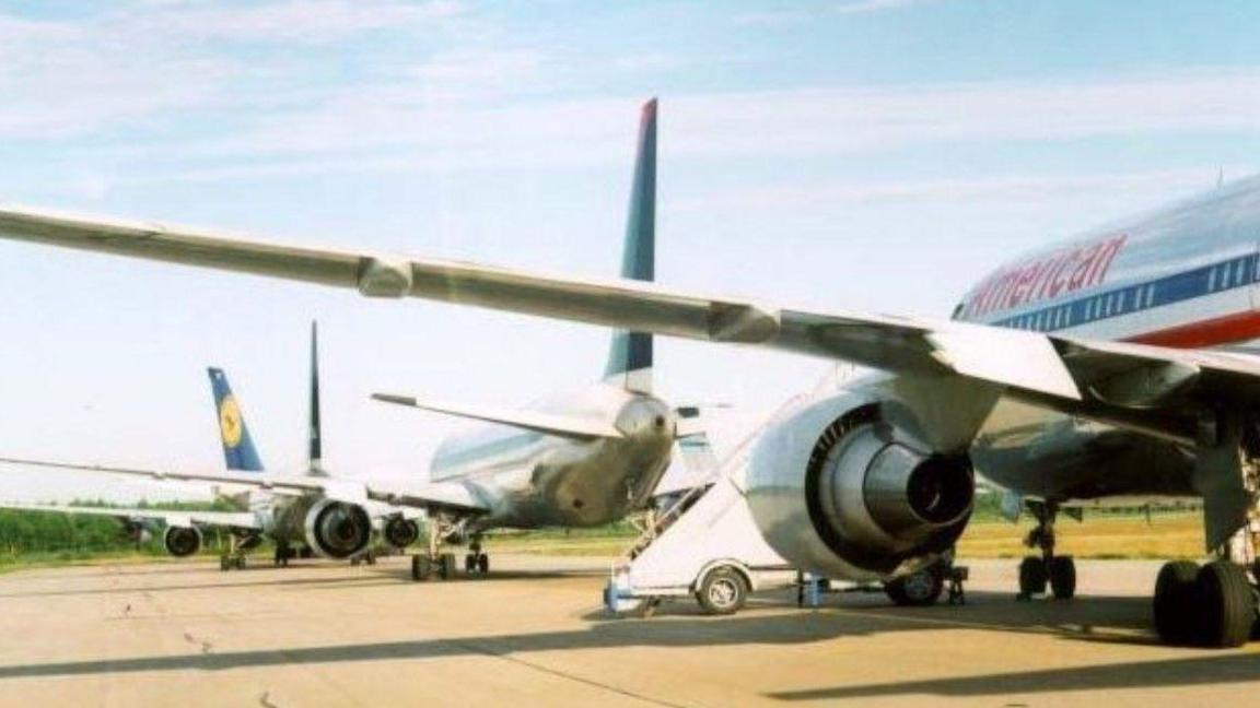
[[1194,577],[1198,644],[1242,646],[1255,622],[1255,596],[1247,573],[1228,561],[1212,561]]

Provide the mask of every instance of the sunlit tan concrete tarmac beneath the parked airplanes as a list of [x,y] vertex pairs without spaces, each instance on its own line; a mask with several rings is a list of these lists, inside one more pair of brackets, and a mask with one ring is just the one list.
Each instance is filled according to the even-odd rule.
[[609,619],[607,559],[493,556],[415,583],[404,558],[220,572],[163,562],[0,576],[0,705],[1239,705],[1260,642],[1159,646],[1157,562],[1081,562],[1072,601],[1017,602],[968,563],[963,606],[791,591]]

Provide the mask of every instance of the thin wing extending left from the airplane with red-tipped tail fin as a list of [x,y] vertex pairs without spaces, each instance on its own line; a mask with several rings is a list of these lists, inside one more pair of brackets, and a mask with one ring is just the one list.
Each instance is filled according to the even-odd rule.
[[349,477],[312,477],[305,475],[277,475],[271,472],[183,472],[173,470],[145,470],[136,467],[53,462],[47,460],[25,460],[20,457],[0,457],[0,464],[135,476],[155,481],[234,484],[253,489],[268,489],[290,494],[316,493],[330,499],[348,501],[352,504],[383,501],[397,506],[412,506],[421,509],[441,508],[467,513],[489,511],[489,506],[480,499],[476,499],[467,488],[454,482],[430,484],[391,480],[364,481]]

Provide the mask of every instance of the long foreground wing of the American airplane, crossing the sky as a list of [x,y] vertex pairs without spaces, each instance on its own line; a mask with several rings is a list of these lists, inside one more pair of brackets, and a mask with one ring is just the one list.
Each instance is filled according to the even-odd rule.
[[869,367],[958,373],[1080,398],[1045,335],[963,323],[814,314],[650,282],[546,276],[475,263],[285,246],[205,231],[0,208],[0,237],[421,297],[656,334],[756,344]]

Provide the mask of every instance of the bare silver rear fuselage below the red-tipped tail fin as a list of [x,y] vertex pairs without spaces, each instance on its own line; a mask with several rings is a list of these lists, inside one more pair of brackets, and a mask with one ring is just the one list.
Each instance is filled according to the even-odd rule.
[[669,466],[674,414],[651,396],[597,384],[530,409],[607,421],[622,437],[562,437],[479,425],[447,438],[431,480],[457,482],[490,511],[486,528],[591,527],[641,509]]

